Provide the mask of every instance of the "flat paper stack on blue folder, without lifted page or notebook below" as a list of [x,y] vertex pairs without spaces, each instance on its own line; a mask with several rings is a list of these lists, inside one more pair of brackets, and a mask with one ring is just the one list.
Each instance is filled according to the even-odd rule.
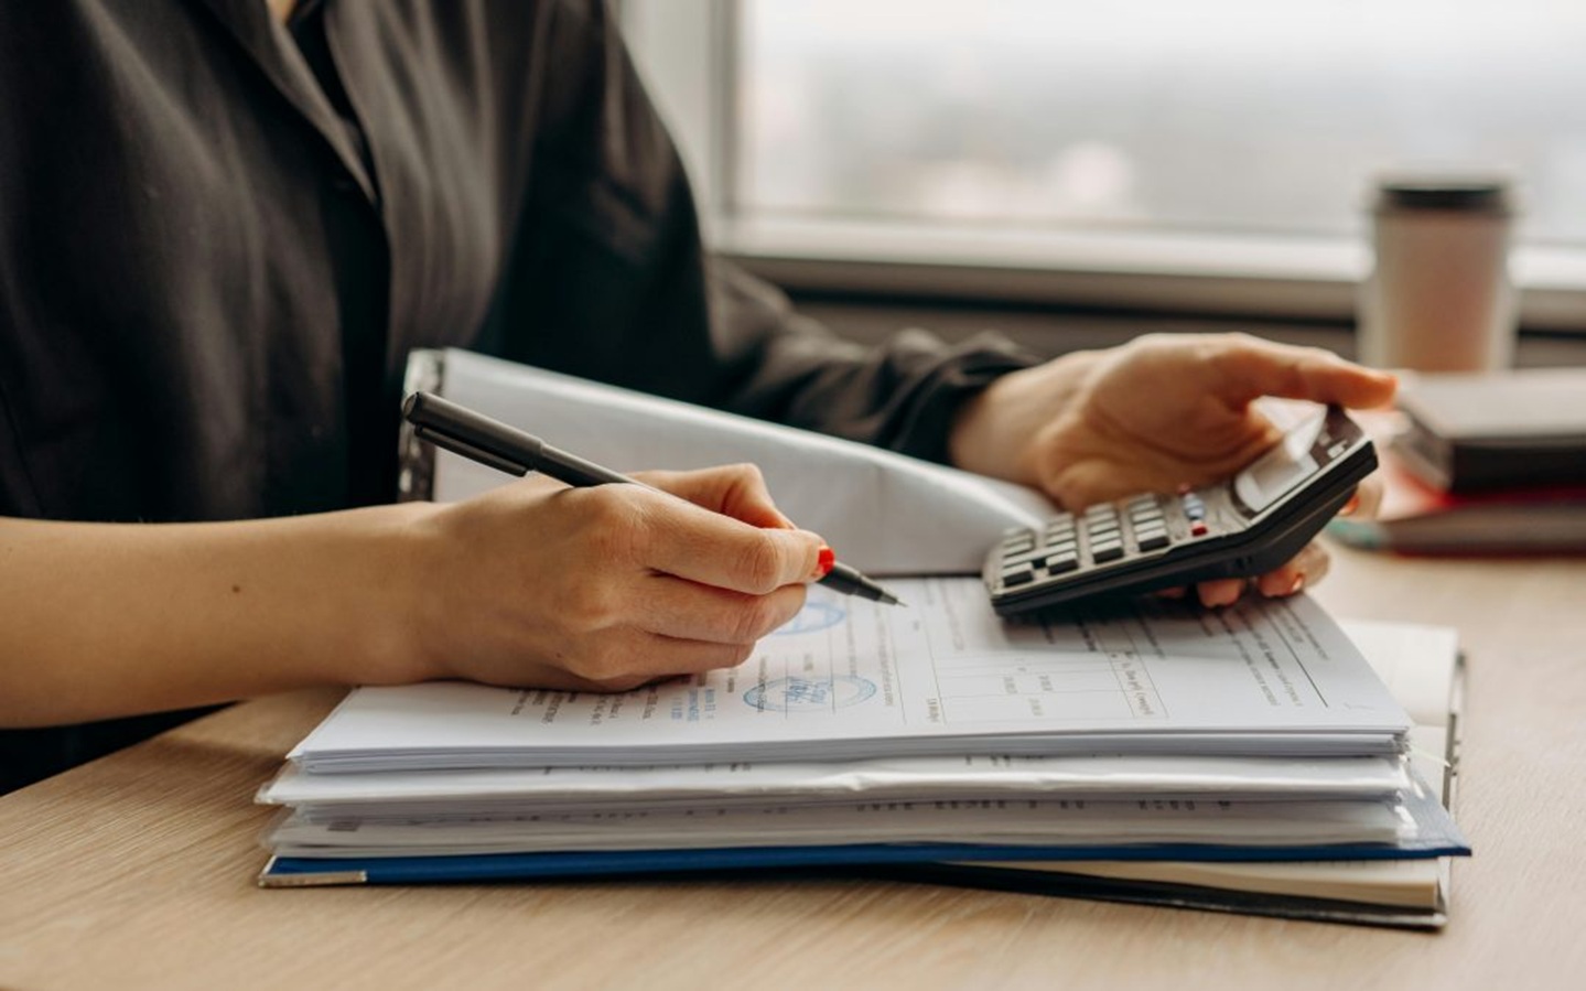
[[626,694],[358,690],[260,794],[266,882],[1467,851],[1304,596],[1007,623],[974,579],[898,585]]

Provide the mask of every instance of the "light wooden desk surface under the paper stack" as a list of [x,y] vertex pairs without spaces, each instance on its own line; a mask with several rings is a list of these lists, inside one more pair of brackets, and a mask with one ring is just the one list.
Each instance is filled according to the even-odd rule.
[[260,891],[251,798],[333,702],[312,693],[0,799],[0,986],[1581,986],[1586,561],[1339,552],[1316,593],[1470,652],[1477,856],[1440,936],[874,882]]

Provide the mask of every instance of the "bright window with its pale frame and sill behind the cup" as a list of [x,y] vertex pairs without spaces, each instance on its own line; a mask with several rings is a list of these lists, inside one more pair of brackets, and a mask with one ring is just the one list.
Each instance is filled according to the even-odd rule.
[[1586,323],[1573,0],[687,6],[630,2],[641,55],[665,21],[712,233],[783,277],[1345,316],[1372,178],[1461,170],[1516,181],[1527,322]]

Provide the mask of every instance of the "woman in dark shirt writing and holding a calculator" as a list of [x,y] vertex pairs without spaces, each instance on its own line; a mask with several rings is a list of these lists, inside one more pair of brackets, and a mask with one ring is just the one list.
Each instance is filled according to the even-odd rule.
[[[994,338],[839,341],[706,257],[604,6],[271,8],[0,8],[0,725],[56,726],[0,736],[0,786],[151,729],[70,725],[300,685],[734,664],[803,603],[822,541],[745,468],[646,476],[695,506],[544,480],[384,504],[412,347],[1075,506],[1248,461],[1259,395],[1393,392],[1235,336],[1047,365]],[[1258,587],[1323,568],[1308,550]]]

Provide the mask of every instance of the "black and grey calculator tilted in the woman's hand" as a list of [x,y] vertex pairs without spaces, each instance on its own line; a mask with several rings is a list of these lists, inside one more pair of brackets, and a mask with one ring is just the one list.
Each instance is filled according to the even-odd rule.
[[1331,406],[1224,482],[1009,530],[986,555],[982,579],[991,607],[1015,615],[1264,574],[1299,553],[1375,468],[1370,439]]

